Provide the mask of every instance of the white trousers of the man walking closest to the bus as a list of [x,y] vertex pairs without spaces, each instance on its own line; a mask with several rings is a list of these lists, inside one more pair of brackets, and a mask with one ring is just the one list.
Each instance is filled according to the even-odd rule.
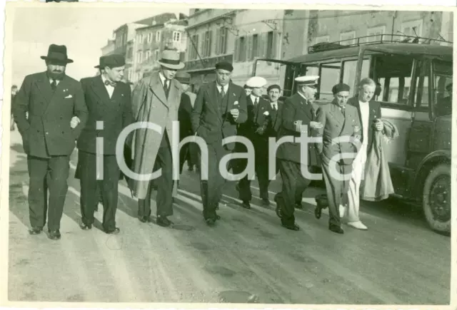
[[349,181],[348,190],[348,208],[347,218],[348,222],[358,222],[358,210],[360,207],[360,185],[363,174],[365,173],[366,163],[366,146],[362,145],[361,150],[358,152],[352,164],[351,180]]

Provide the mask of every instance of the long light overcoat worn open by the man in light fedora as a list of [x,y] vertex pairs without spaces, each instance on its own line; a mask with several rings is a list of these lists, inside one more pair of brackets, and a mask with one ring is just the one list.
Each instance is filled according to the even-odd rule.
[[[170,143],[173,140],[173,122],[178,120],[179,103],[181,103],[181,83],[176,79],[170,81],[169,95],[166,97],[159,72],[143,78],[136,84],[132,93],[131,108],[134,122],[149,122],[161,128],[161,134],[146,128],[135,130],[131,139],[132,170],[139,174],[150,174],[154,169],[162,136],[166,130]],[[144,199],[149,180],[131,180],[129,187],[135,197]]]

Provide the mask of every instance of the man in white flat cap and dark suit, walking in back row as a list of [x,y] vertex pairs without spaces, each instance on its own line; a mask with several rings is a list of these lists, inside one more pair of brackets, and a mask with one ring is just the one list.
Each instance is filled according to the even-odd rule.
[[[238,126],[238,135],[247,138],[253,143],[255,151],[255,171],[258,182],[263,180],[268,181],[268,162],[265,162],[265,153],[268,153],[268,137],[263,135],[268,125],[268,101],[263,99],[263,86],[266,85],[266,79],[260,76],[253,76],[246,82],[246,88],[250,89],[251,93],[246,96],[246,107],[248,110],[248,120]],[[246,153],[248,150],[243,143],[236,143],[236,153]],[[236,160],[236,165],[233,166],[233,172],[239,174],[246,170],[248,160],[240,158]],[[263,167],[261,167],[263,165]],[[262,181],[261,181],[262,180]],[[264,188],[262,188],[264,189]],[[261,190],[262,190],[261,189]],[[251,179],[245,175],[236,185],[238,197],[241,200],[241,206],[246,209],[251,209]],[[268,190],[261,192],[263,201],[268,202]]]

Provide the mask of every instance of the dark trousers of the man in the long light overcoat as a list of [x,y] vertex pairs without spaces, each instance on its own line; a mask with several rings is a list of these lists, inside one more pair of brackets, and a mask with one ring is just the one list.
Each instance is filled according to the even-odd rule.
[[161,176],[149,181],[148,191],[144,199],[138,200],[138,216],[149,217],[151,215],[151,192],[153,185],[157,188],[156,216],[168,217],[173,215],[173,157],[170,146],[159,148],[154,162],[154,170],[162,170]]

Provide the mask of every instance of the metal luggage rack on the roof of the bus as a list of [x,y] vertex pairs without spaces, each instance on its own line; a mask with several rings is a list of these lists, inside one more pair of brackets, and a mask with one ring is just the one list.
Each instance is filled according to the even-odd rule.
[[[372,38],[373,40],[370,40]],[[318,53],[322,51],[335,51],[342,48],[355,46],[382,44],[382,43],[411,43],[411,44],[431,44],[431,43],[453,44],[451,41],[436,38],[423,38],[420,36],[405,36],[403,34],[378,34],[373,36],[360,36],[347,40],[335,42],[321,42],[308,47],[308,53]]]

